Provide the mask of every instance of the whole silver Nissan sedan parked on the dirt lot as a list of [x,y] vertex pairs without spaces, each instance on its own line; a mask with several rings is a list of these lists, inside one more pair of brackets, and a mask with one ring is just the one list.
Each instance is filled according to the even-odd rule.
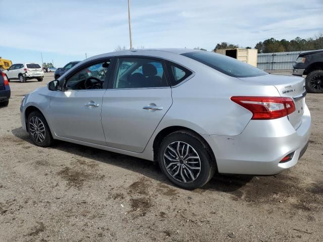
[[158,161],[177,186],[214,173],[270,175],[305,152],[304,79],[191,49],[93,56],[27,94],[21,122],[46,147],[63,140]]

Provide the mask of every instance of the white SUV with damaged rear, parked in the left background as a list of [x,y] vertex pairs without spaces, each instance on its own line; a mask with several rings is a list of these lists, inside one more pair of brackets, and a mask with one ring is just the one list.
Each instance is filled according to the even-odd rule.
[[14,64],[4,73],[9,80],[19,80],[20,82],[26,82],[29,79],[37,79],[38,82],[42,82],[44,78],[44,72],[36,63]]

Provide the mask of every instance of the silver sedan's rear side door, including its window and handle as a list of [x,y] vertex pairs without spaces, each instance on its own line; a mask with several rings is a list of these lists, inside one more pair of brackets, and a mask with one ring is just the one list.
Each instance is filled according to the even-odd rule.
[[172,105],[164,62],[120,57],[111,83],[102,103],[107,146],[140,153]]

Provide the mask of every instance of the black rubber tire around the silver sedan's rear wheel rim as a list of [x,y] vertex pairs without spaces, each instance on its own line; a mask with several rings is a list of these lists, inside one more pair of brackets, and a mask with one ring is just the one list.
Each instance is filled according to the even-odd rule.
[[[191,151],[197,153],[197,155],[199,157],[199,161],[200,161],[200,164],[198,164],[198,166],[200,166],[199,173],[196,175],[195,179],[190,178],[189,175],[185,176],[186,179],[188,179],[188,181],[186,181],[186,182],[178,180],[178,179],[182,179],[182,178],[178,178],[179,175],[177,175],[177,178],[174,178],[170,174],[170,172],[172,172],[171,168],[174,168],[175,169],[174,171],[176,171],[176,169],[178,167],[178,170],[181,169],[181,172],[182,172],[182,168],[180,168],[180,166],[183,166],[183,170],[185,171],[185,168],[187,168],[187,166],[186,167],[184,167],[184,166],[187,165],[187,162],[185,161],[186,164],[183,164],[184,159],[181,159],[181,162],[178,162],[178,164],[171,166],[169,169],[166,168],[166,164],[164,161],[164,153],[165,153],[166,149],[168,148],[168,146],[174,145],[174,144],[176,145],[176,143],[178,141],[182,142],[182,144],[184,144],[184,147],[185,147],[185,144],[191,146],[191,148],[190,148]],[[183,148],[183,150],[184,150],[184,148]],[[216,161],[212,159],[210,152],[211,151],[209,150],[208,146],[205,144],[205,142],[200,137],[198,137],[198,135],[194,134],[193,132],[186,131],[186,130],[180,130],[180,131],[176,131],[174,133],[171,133],[170,135],[166,136],[161,141],[159,149],[158,149],[158,163],[159,163],[161,170],[163,170],[166,177],[170,181],[172,181],[172,183],[174,183],[175,185],[177,185],[181,188],[184,188],[187,190],[192,190],[192,189],[196,189],[196,188],[200,188],[200,187],[204,186],[213,177],[214,173],[217,170]],[[182,153],[183,153],[183,151],[182,151]],[[190,166],[193,166],[193,165],[190,164]],[[190,171],[193,172],[194,170],[190,169]],[[188,171],[188,172],[190,172],[190,171]],[[178,171],[176,171],[176,172],[178,172]],[[174,172],[173,175],[176,172]],[[188,172],[186,172],[186,174],[189,174]],[[195,176],[195,173],[193,173],[193,177],[194,176]],[[180,176],[180,177],[182,177],[182,176]]]

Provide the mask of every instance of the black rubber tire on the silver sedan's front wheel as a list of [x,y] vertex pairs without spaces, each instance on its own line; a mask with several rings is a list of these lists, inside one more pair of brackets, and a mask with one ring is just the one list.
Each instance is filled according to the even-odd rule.
[[[34,123],[34,119],[31,120],[32,118],[38,118],[42,125],[38,125],[38,130],[39,131],[42,131],[42,127],[44,128],[44,139],[42,140],[42,137],[38,136],[37,138],[37,134],[34,134],[33,135],[33,127],[31,125],[31,123]],[[39,121],[38,120],[38,121]],[[40,124],[38,122],[38,124]],[[53,138],[51,136],[51,133],[50,133],[50,130],[49,130],[49,127],[47,125],[47,122],[46,122],[46,119],[45,117],[39,112],[39,111],[32,111],[29,115],[28,115],[28,118],[27,118],[27,128],[28,128],[28,133],[29,133],[29,136],[32,140],[32,142],[37,145],[37,146],[41,146],[41,147],[47,147],[47,146],[50,146],[52,143],[53,143]]]

